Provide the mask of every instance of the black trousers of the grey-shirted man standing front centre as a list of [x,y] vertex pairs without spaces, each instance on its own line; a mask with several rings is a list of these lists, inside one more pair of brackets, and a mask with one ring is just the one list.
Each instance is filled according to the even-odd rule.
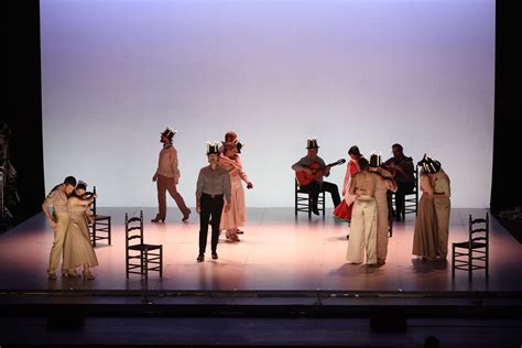
[[199,214],[199,254],[204,254],[207,248],[208,221],[213,220],[211,250],[216,252],[219,239],[219,224],[221,222],[222,195],[210,196],[202,194],[202,213]]

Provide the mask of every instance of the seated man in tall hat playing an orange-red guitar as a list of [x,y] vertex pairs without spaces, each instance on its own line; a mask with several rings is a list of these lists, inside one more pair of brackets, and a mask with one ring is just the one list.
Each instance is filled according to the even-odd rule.
[[[312,213],[319,215],[317,209],[317,198],[320,192],[329,192],[334,206],[337,207],[340,204],[339,189],[336,184],[327,183],[323,181],[323,176],[328,176],[330,174],[330,167],[325,164],[322,157],[317,155],[319,146],[317,145],[317,140],[311,138],[307,140],[308,154],[302,157],[297,163],[292,165],[292,170],[296,172],[305,172],[308,175],[319,173],[309,184],[301,185],[301,189],[307,192],[312,196]],[[311,167],[318,166],[318,170],[314,172]]]

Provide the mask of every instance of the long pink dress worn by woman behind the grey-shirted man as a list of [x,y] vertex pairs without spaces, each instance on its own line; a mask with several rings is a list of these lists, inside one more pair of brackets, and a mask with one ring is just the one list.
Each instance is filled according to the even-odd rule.
[[244,226],[247,221],[247,207],[244,205],[244,189],[241,180],[246,178],[247,175],[242,171],[241,160],[239,156],[229,159],[221,154],[219,165],[228,171],[230,174],[231,184],[231,198],[230,209],[221,213],[221,222],[219,225],[220,230],[237,229],[240,226]]

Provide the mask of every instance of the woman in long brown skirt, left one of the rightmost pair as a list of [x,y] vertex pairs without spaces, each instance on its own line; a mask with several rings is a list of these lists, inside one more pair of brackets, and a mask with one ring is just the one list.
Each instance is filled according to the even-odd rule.
[[421,200],[418,202],[417,216],[415,217],[415,230],[413,232],[414,255],[423,259],[435,260],[438,249],[437,220],[433,203],[433,187],[429,178],[429,167],[425,167],[425,159],[418,162],[423,166],[420,172]]

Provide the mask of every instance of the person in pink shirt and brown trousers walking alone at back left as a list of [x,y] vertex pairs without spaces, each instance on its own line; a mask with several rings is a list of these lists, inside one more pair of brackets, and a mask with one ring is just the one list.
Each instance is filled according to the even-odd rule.
[[163,143],[163,149],[160,151],[160,160],[157,170],[152,177],[153,182],[157,183],[157,204],[160,206],[159,213],[152,222],[164,222],[166,217],[166,192],[171,194],[176,202],[177,207],[182,210],[183,221],[188,220],[191,209],[185,205],[185,200],[176,189],[180,181],[180,170],[177,168],[177,151],[172,145],[172,138],[176,134],[176,130],[167,127],[162,133],[160,142]]

